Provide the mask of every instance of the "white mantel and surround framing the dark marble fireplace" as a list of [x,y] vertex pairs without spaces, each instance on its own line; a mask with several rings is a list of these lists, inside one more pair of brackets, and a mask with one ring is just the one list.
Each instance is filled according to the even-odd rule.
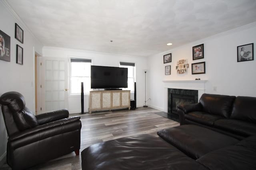
[[[208,80],[163,80],[164,82],[164,111],[168,112],[168,88],[198,90],[198,100],[205,92]],[[197,101],[198,102],[198,101]]]

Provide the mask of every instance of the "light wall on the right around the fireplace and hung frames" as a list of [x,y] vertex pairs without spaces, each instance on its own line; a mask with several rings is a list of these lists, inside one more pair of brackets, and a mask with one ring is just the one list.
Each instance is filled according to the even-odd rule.
[[[256,45],[256,23],[245,25],[206,39],[198,40],[173,50],[149,57],[149,105],[167,111],[163,80],[208,80],[205,92],[234,96],[256,97],[256,60],[237,62],[237,46],[254,43]],[[192,60],[192,47],[204,44],[204,59]],[[172,62],[163,64],[163,55],[172,53]],[[188,59],[188,73],[177,74],[176,64],[181,59]],[[191,64],[206,62],[206,74],[191,74]],[[166,65],[171,65],[171,75],[165,75]],[[168,84],[170,85],[170,84]],[[214,91],[213,88],[217,90]],[[200,98],[200,96],[199,96]]]

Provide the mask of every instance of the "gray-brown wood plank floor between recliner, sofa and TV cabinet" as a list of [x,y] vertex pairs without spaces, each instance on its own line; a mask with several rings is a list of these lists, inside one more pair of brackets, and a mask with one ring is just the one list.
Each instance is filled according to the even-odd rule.
[[[150,107],[139,107],[136,110],[113,110],[93,112],[80,115],[82,122],[80,152],[90,145],[128,137],[138,134],[151,134],[157,136],[160,129],[178,126],[179,123],[160,115],[154,114],[159,110]],[[79,115],[72,114],[71,116]],[[10,170],[4,164],[0,170]],[[81,170],[81,153],[76,156],[74,152],[34,166],[29,170]]]

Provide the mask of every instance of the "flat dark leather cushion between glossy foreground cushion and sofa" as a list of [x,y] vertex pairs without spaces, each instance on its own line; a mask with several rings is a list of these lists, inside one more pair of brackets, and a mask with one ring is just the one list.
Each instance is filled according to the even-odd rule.
[[239,142],[233,137],[197,125],[171,127],[158,131],[157,134],[194,159]]

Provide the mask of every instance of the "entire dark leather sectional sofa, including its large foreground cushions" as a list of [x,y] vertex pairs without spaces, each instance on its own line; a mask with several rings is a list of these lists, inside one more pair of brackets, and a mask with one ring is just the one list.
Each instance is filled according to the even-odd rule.
[[203,94],[198,104],[179,106],[181,125],[158,131],[160,138],[136,135],[84,149],[82,169],[255,170],[255,111],[256,98]]

